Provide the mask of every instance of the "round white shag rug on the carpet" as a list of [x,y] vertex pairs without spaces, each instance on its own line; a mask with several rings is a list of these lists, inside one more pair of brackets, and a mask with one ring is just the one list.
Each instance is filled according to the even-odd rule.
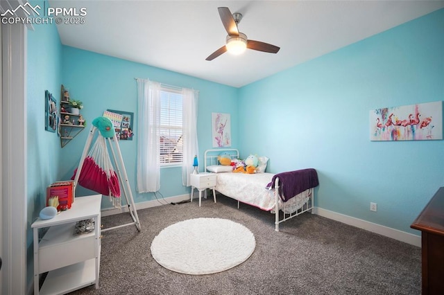
[[255,235],[242,224],[220,218],[196,218],[162,229],[151,243],[151,255],[182,274],[214,274],[247,260]]

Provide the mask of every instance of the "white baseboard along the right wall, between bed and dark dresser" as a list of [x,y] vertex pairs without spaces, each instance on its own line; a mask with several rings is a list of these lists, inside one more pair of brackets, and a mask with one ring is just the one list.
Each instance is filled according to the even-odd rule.
[[375,224],[373,222],[368,222],[366,220],[360,220],[359,218],[350,217],[348,215],[343,215],[341,213],[325,210],[323,208],[315,207],[314,213],[319,216],[329,218],[331,220],[336,220],[338,222],[355,226],[359,229],[365,229],[366,231],[371,231],[372,233],[377,233],[379,235],[384,235],[388,238],[405,242],[407,244],[412,244],[413,246],[421,247],[420,235],[413,235],[412,233],[399,231],[398,229],[392,229],[387,226]]

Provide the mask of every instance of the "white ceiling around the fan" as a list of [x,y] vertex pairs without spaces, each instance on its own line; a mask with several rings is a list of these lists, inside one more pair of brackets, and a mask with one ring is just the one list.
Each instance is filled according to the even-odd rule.
[[[62,44],[242,87],[444,7],[444,1],[49,1],[87,8],[60,24]],[[280,46],[205,58],[225,44],[220,6],[244,18],[248,39]],[[150,77],[141,77],[150,78]]]

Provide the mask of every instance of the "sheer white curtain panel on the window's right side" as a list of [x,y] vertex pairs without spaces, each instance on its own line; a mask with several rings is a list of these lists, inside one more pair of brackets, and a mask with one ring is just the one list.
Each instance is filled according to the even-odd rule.
[[[183,97],[183,160],[182,184],[190,186],[189,175],[193,172],[194,156],[199,154],[197,141],[198,91],[182,89]],[[199,163],[200,164],[200,163]]]

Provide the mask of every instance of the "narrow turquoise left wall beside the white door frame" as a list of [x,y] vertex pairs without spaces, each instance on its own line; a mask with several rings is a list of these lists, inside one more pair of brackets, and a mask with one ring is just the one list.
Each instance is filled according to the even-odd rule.
[[[31,4],[44,6],[43,1]],[[46,6],[48,4],[46,3]],[[28,30],[27,68],[27,173],[28,182],[28,281],[33,278],[33,231],[31,224],[46,202],[46,186],[58,180],[60,138],[45,130],[45,90],[60,102],[62,83],[62,44],[56,26],[35,24]],[[21,116],[17,114],[17,116]]]

